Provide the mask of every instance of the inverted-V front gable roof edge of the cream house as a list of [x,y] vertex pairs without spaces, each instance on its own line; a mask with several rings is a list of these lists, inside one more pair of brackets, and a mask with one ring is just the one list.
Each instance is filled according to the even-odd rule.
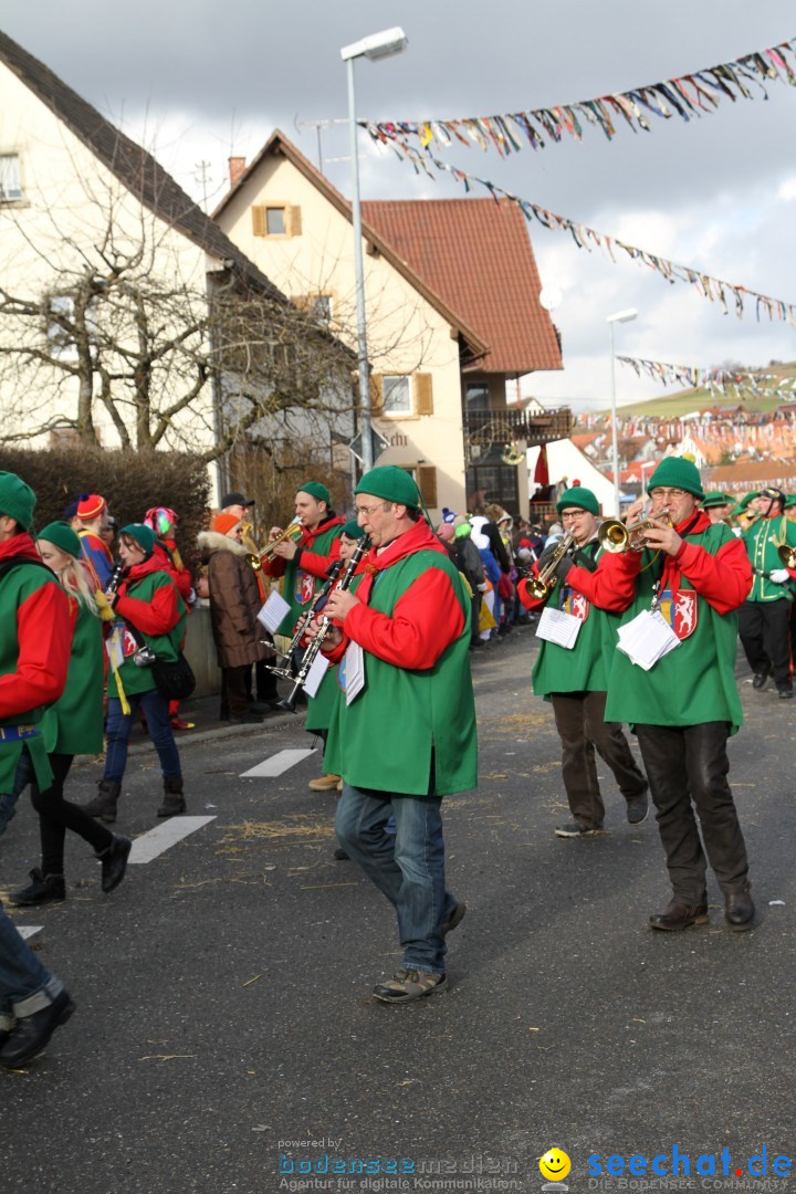
[[[350,202],[340,193],[340,191],[338,191],[335,186],[332,185],[332,183],[329,183],[328,178],[325,178],[323,174],[321,174],[321,172],[313,166],[308,158],[304,158],[303,153],[297,149],[296,146],[279,131],[279,129],[274,130],[260,149],[259,154],[252,159],[246,170],[239,176],[235,184],[229,189],[227,195],[224,195],[223,199],[212,213],[214,220],[218,219],[234,196],[246,186],[247,181],[257,173],[265,159],[271,156],[286,158],[288,161],[290,161],[296,170],[298,170],[313,184],[313,186],[315,186],[320,193],[328,199],[340,215],[345,216],[346,220],[351,220]],[[438,294],[433,287],[428,284],[427,279],[421,277],[412,267],[412,265],[395,251],[395,247],[382,235],[382,233],[369,223],[365,219],[364,209],[365,204],[363,204],[362,221],[362,233],[365,240],[369,241],[369,244],[372,245],[372,247],[377,250],[382,257],[389,261],[390,265],[397,270],[397,272],[405,277],[436,310],[439,312],[443,319],[451,325],[451,327],[464,340],[470,358],[479,358],[477,367],[481,368],[482,358],[485,358],[486,353],[490,350],[487,340],[485,340],[480,332],[476,331],[465,318],[463,318],[458,307],[451,306],[443,295]]]

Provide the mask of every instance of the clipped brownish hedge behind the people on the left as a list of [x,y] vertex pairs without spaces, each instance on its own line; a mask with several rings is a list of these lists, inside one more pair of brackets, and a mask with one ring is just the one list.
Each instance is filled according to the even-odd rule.
[[0,447],[0,469],[17,473],[36,493],[35,527],[61,518],[81,493],[101,493],[121,527],[141,522],[150,506],[171,506],[179,515],[180,553],[186,561],[196,559],[196,536],[206,522],[210,496],[208,466],[197,456]]

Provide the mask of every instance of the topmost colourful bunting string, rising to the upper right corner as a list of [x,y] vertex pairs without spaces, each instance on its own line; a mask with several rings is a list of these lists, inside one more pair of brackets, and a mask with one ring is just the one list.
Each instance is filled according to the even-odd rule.
[[633,91],[613,92],[574,104],[554,104],[526,112],[505,112],[501,116],[465,116],[455,119],[425,121],[359,121],[362,128],[382,144],[391,144],[403,153],[416,153],[412,139],[424,149],[432,143],[437,149],[455,141],[477,146],[485,152],[495,149],[501,158],[519,153],[527,141],[533,149],[559,144],[566,136],[584,140],[588,124],[601,129],[609,141],[617,128],[629,124],[634,133],[652,131],[652,117],[693,121],[714,112],[722,99],[754,99],[766,91],[767,81],[786,82],[796,87],[796,38],[780,42],[765,50],[753,50],[732,62],[704,67],[686,75],[675,75],[662,82],[646,84]]

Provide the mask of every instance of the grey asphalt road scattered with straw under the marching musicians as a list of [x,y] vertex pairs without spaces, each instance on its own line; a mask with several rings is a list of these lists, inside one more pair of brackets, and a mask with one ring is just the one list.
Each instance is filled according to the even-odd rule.
[[[572,1158],[572,1194],[640,1188],[590,1177],[591,1155],[592,1170],[636,1153],[671,1171],[674,1146],[692,1188],[754,1188],[764,1145],[769,1188],[792,1188],[772,1161],[796,1156],[796,706],[741,677],[730,778],[758,927],[727,930],[714,884],[710,927],[650,933],[668,900],[652,818],[631,829],[611,778],[606,837],[553,835],[567,808],[532,652],[519,630],[474,659],[481,783],[444,805],[449,882],[468,904],[446,992],[371,999],[400,961],[394,916],[332,858],[333,794],[307,788],[317,759],[241,778],[310,744],[300,719],[185,746],[189,812],[215,820],[115,894],[69,839],[68,899],[14,916],[42,925],[31,941],[78,1011],[42,1059],[0,1073],[0,1194],[538,1190],[553,1145]],[[394,732],[374,726],[374,749]],[[98,774],[78,769],[74,798]],[[154,752],[131,758],[118,827],[150,830],[159,788]],[[25,805],[0,838],[5,892],[37,861]],[[696,1176],[722,1149],[729,1176]],[[301,1158],[327,1171],[302,1174]],[[357,1158],[371,1158],[364,1176]]]

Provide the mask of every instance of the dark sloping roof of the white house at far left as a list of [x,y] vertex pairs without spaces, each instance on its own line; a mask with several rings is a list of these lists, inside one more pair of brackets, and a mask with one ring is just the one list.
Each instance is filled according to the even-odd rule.
[[4,62],[154,215],[179,229],[205,253],[223,263],[232,261],[234,271],[248,285],[270,298],[288,301],[152,154],[106,121],[49,67],[1,31],[0,62]]

